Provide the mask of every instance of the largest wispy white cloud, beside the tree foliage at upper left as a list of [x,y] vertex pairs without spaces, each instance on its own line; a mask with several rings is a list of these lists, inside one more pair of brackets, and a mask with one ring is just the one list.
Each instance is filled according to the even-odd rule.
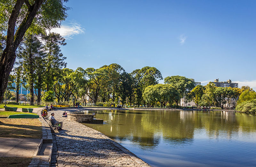
[[85,29],[78,23],[70,23],[69,25],[61,25],[60,28],[53,28],[51,32],[59,33],[66,39],[72,39],[72,36],[84,33]]

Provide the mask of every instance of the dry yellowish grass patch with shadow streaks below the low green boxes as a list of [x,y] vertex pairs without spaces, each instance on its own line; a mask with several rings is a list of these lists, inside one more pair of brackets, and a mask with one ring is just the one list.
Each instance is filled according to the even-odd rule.
[[42,124],[38,119],[1,118],[0,136],[10,138],[41,139]]

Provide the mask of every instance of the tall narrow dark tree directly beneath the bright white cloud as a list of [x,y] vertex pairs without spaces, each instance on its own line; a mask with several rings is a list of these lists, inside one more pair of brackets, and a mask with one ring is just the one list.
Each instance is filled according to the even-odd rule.
[[46,71],[45,80],[46,91],[49,91],[54,82],[54,77],[57,77],[59,74],[59,69],[65,68],[67,63],[64,62],[67,57],[63,56],[61,53],[60,46],[64,46],[67,43],[65,38],[61,37],[58,33],[50,33],[49,35],[43,37],[45,40],[45,50],[46,50]]

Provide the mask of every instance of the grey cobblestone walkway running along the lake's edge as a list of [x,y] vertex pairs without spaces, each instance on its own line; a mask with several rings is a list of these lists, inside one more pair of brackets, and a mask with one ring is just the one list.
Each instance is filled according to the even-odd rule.
[[52,135],[51,166],[150,166],[99,131],[61,117],[62,113],[54,111],[64,130]]

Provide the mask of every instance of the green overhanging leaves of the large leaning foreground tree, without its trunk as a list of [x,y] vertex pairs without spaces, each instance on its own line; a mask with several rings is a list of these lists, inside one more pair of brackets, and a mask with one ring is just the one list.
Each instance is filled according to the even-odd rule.
[[[36,0],[38,1],[38,0]],[[30,5],[34,5],[33,2],[29,1]],[[40,9],[37,11],[35,18],[30,26],[30,31],[33,32],[44,32],[46,29],[52,29],[60,27],[60,22],[67,18],[66,11],[69,9],[64,5],[68,0],[46,0],[43,1]],[[8,20],[12,13],[12,9],[16,1],[4,0],[0,3],[0,31],[7,31]],[[28,19],[28,6],[23,2],[20,9],[20,14],[16,21],[16,26],[19,28],[22,26],[22,22]]]

